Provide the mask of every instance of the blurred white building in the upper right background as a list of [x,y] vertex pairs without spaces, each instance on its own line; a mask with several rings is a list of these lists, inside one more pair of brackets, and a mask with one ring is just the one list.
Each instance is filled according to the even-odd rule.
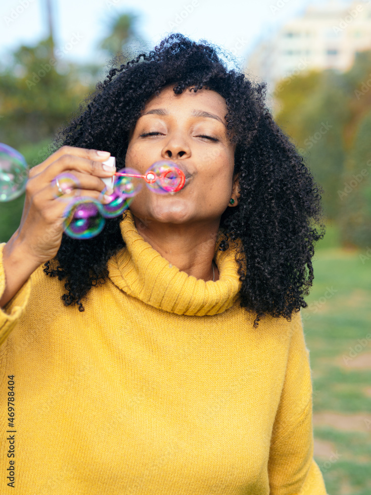
[[[371,49],[371,0],[348,7],[336,0],[308,7],[301,18],[285,24],[261,42],[247,61],[246,72],[276,83],[310,69],[348,70],[359,51]],[[279,91],[279,89],[278,89]]]

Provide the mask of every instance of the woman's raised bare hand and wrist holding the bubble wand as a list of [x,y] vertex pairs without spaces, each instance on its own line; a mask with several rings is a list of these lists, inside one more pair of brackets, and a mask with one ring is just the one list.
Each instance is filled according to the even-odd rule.
[[[78,180],[75,196],[98,199],[105,185],[101,178],[110,177],[114,167],[104,170],[103,161],[110,153],[95,149],[63,146],[30,170],[20,225],[3,248],[5,291],[3,306],[41,264],[53,258],[61,244],[63,212],[67,202],[58,197],[55,177],[72,173]],[[107,200],[108,202],[108,200]]]

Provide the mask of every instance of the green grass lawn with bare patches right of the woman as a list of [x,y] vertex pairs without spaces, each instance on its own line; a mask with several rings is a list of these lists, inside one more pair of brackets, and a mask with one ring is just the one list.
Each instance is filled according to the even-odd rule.
[[371,256],[367,249],[337,246],[329,226],[314,256],[309,307],[302,310],[313,377],[314,457],[329,495],[370,495]]

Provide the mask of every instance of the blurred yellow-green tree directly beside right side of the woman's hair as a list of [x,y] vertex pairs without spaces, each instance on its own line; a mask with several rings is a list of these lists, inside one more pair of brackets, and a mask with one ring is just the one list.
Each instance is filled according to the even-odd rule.
[[[278,124],[293,139],[323,189],[325,213],[336,219],[344,167],[343,129],[349,110],[341,76],[324,71],[296,77],[279,96]],[[286,124],[289,122],[289,125]]]

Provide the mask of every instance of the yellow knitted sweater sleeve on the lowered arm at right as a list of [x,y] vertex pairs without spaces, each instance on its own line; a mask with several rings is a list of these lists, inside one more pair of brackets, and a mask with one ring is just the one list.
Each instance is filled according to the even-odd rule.
[[272,432],[268,462],[270,495],[326,495],[313,459],[312,379],[300,313],[292,333],[285,381]]

